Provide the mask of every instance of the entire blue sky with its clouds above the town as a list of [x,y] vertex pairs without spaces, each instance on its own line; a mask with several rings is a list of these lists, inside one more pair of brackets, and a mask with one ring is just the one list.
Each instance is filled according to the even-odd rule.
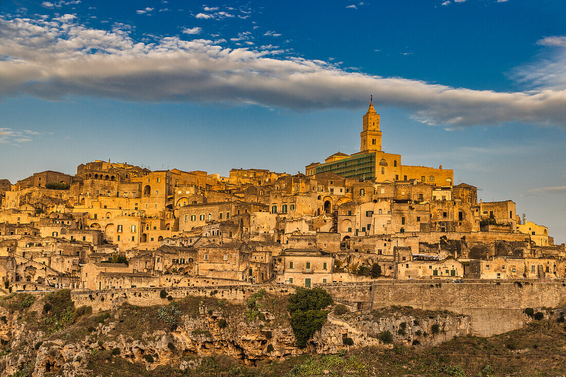
[[0,3],[0,176],[94,159],[304,172],[359,149],[454,169],[566,239],[563,1]]

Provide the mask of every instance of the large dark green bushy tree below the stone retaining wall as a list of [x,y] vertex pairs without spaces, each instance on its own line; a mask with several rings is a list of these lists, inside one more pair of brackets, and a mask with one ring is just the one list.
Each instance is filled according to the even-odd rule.
[[297,346],[305,348],[308,339],[319,331],[327,319],[327,311],[321,309],[332,304],[332,297],[322,288],[298,287],[289,297],[287,310],[291,314],[291,327],[297,338]]

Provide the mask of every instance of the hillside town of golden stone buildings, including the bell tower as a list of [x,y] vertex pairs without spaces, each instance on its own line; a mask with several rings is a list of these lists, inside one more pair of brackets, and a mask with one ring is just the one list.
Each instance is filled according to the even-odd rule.
[[305,173],[80,164],[0,180],[0,289],[566,278],[566,249],[512,200],[401,163],[363,115],[361,148]]

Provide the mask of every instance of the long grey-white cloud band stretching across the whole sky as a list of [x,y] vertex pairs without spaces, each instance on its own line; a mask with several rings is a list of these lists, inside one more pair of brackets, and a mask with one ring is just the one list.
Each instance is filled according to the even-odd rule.
[[[230,49],[207,39],[157,37],[144,43],[126,27],[93,29],[72,15],[0,18],[0,31],[0,55],[8,58],[0,60],[0,98],[92,96],[302,110],[358,109],[373,94],[376,106],[402,107],[423,123],[448,128],[523,122],[566,129],[566,85],[526,92],[453,88],[345,71],[269,50]],[[238,34],[244,37],[251,36]],[[556,64],[561,53],[554,55]],[[14,135],[11,129],[1,132]],[[0,137],[23,138],[10,135]]]

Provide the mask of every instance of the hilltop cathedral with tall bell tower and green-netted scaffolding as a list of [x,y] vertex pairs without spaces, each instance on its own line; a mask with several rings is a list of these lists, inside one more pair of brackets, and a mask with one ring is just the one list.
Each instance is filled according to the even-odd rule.
[[427,166],[411,166],[401,164],[401,155],[386,153],[381,150],[381,131],[379,114],[374,103],[363,116],[363,128],[360,133],[360,151],[352,155],[335,153],[325,159],[324,163],[314,162],[305,167],[305,174],[332,172],[345,178],[385,181],[408,181],[417,179],[435,186],[451,186],[454,171]]

